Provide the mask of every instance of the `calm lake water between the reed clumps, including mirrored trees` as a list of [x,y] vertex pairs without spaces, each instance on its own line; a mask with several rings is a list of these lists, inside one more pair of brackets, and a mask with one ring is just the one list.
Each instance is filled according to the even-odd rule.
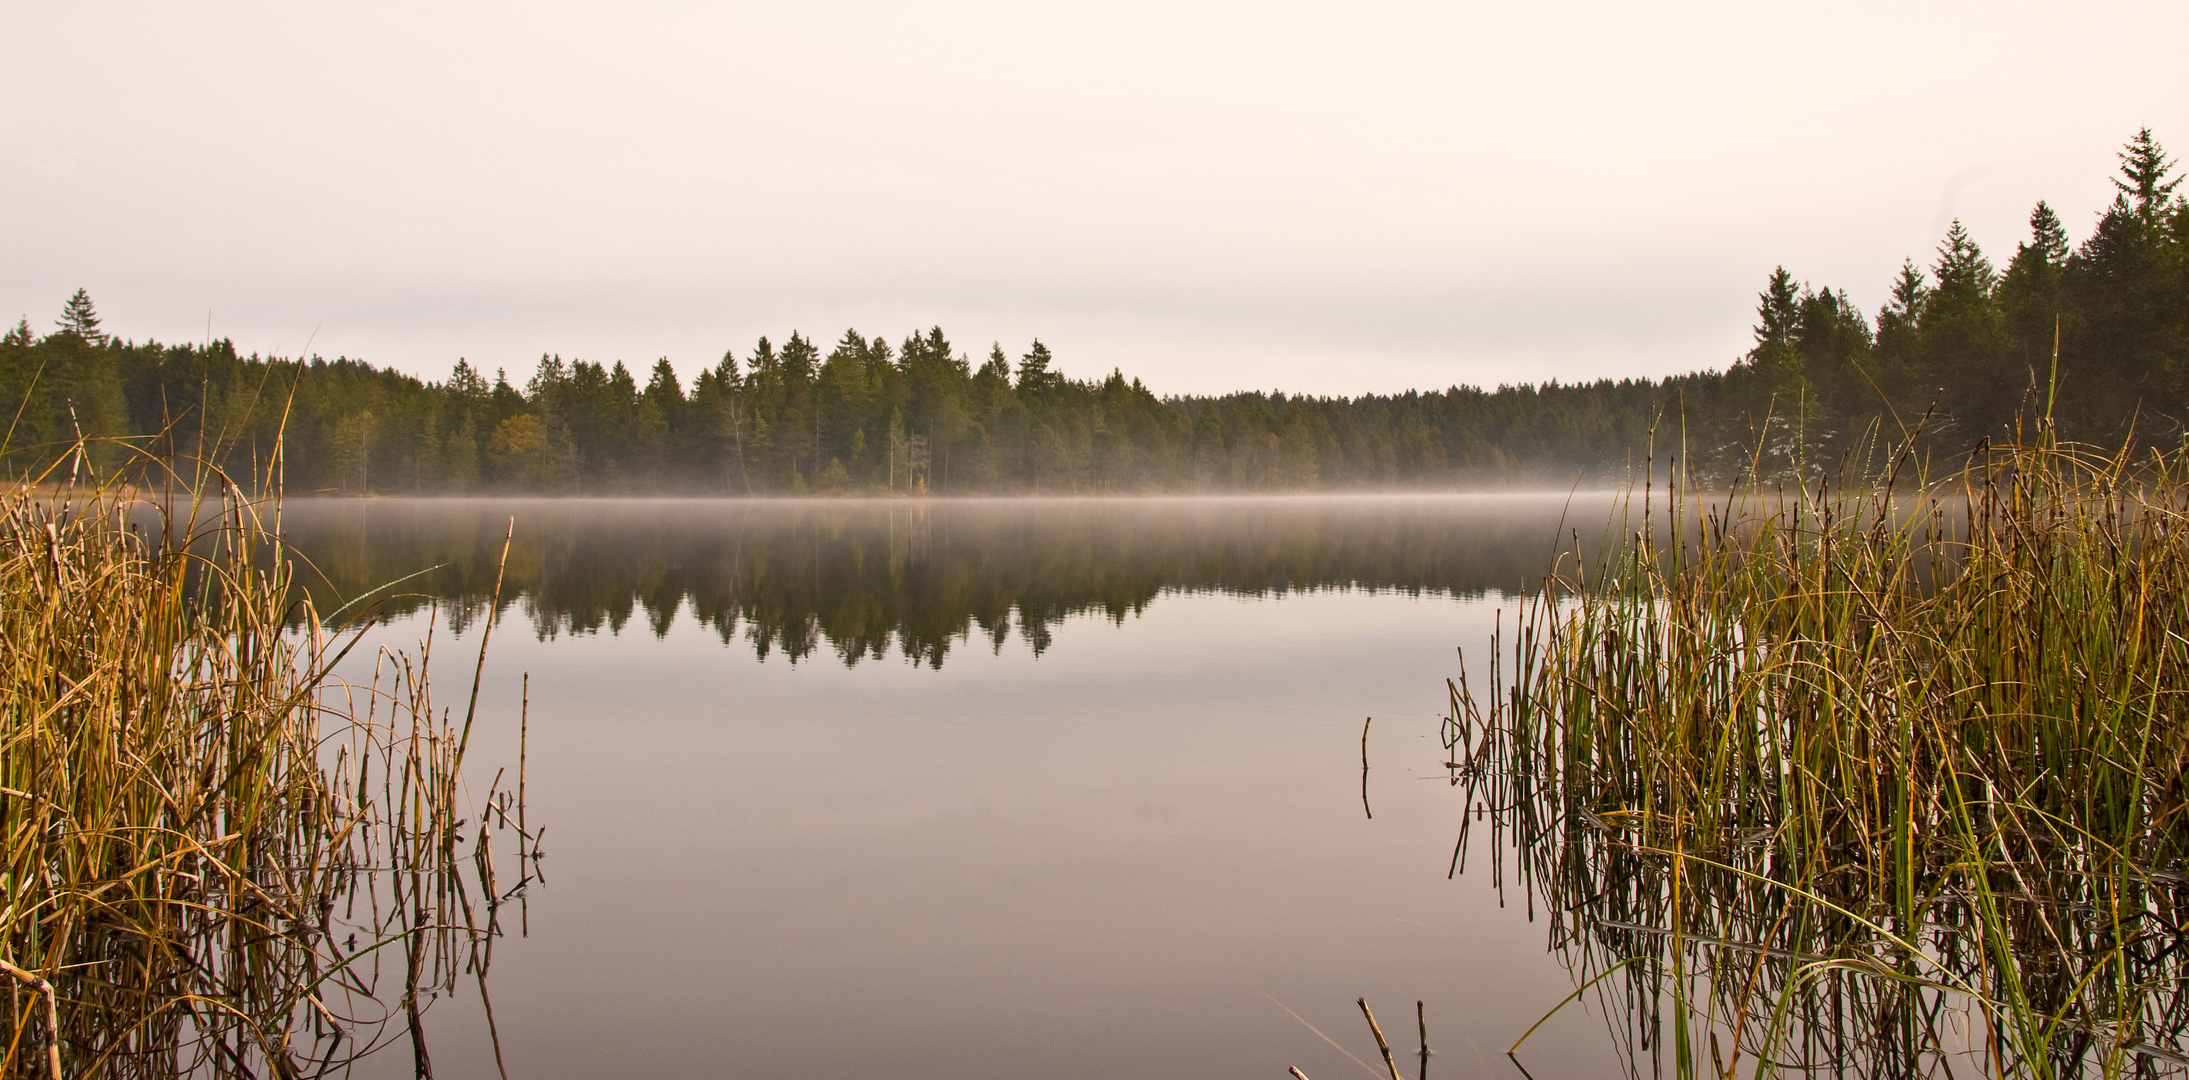
[[[1359,1076],[1316,1030],[1381,1076],[1364,995],[1403,1049],[1427,1003],[1429,1076],[1519,1076],[1504,1047],[1574,988],[1495,848],[1447,878],[1438,729],[1456,648],[1605,499],[370,499],[285,528],[322,607],[442,565],[372,637],[438,622],[453,699],[510,517],[473,751],[514,773],[530,673],[547,883],[493,964],[510,1076]],[[468,986],[429,1021],[440,1076],[493,1076]],[[1624,1071],[1583,1008],[1524,1062]]]

